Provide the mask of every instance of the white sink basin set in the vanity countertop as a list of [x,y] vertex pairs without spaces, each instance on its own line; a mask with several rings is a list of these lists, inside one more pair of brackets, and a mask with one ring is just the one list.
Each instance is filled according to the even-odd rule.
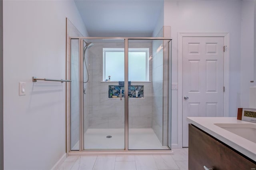
[[214,125],[256,143],[256,124],[214,123]]

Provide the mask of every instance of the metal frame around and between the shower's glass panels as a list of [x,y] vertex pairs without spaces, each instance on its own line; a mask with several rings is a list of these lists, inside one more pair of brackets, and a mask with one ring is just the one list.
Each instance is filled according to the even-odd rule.
[[[80,139],[79,139],[79,150],[71,150],[70,149],[70,101],[71,98],[66,98],[67,104],[67,123],[66,123],[66,152],[68,155],[98,155],[98,154],[172,154],[172,150],[170,149],[170,108],[169,105],[171,103],[169,86],[171,74],[169,65],[171,62],[171,42],[172,39],[166,39],[164,37],[69,37],[69,42],[71,39],[79,39],[79,118],[80,118]],[[124,40],[124,150],[84,150],[84,96],[83,96],[83,41],[84,39],[123,39]],[[163,50],[163,123],[165,121],[165,126],[163,125],[163,136],[166,137],[167,141],[163,140],[162,145],[167,146],[169,149],[163,150],[129,150],[128,149],[128,41],[129,40],[163,40],[164,50]],[[69,43],[71,46],[71,43]],[[70,47],[69,47],[70,48]],[[71,58],[71,50],[69,53],[69,57]],[[69,58],[69,61],[70,61]],[[70,68],[70,67],[69,67]],[[67,68],[67,78],[70,76],[71,70]],[[70,96],[70,87],[67,87],[67,96]]]

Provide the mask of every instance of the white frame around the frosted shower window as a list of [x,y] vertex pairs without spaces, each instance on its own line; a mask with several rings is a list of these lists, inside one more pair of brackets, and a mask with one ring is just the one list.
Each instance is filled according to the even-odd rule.
[[[124,48],[102,48],[103,64],[102,64],[102,81],[106,80],[106,52],[124,52]],[[132,82],[149,82],[149,48],[129,48],[128,52],[145,52],[146,53],[146,80]],[[129,69],[129,66],[128,66]]]

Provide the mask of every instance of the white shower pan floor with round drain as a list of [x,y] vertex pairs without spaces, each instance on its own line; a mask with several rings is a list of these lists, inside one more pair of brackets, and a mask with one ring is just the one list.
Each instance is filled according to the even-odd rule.
[[[107,136],[112,136],[107,138]],[[162,147],[153,129],[129,129],[129,149],[168,149]],[[124,129],[88,129],[84,149],[124,149]]]

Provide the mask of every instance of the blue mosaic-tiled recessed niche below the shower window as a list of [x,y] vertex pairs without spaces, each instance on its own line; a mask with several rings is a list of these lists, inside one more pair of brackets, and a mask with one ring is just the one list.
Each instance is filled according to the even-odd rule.
[[[122,97],[124,97],[124,87],[117,85],[108,86],[108,98],[120,98],[120,89],[122,89]],[[128,86],[128,95],[129,98],[136,98],[136,90],[138,90],[138,98],[144,98],[144,86]],[[112,97],[116,96],[116,97]]]

